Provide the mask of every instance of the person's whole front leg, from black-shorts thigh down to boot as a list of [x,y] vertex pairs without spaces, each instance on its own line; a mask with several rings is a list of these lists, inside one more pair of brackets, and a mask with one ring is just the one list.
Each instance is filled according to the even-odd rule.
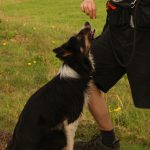
[[92,43],[95,61],[93,85],[90,85],[89,110],[98,123],[100,133],[89,142],[75,143],[74,150],[119,150],[111,118],[103,92],[107,92],[124,74],[124,68],[116,62],[110,43],[109,28],[106,25],[101,36]]

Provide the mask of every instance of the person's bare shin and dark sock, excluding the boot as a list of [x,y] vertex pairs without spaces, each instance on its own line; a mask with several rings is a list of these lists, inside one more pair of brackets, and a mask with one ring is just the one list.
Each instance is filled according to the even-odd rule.
[[101,131],[102,143],[111,147],[117,138],[104,94],[95,84],[90,86],[90,99],[89,110]]

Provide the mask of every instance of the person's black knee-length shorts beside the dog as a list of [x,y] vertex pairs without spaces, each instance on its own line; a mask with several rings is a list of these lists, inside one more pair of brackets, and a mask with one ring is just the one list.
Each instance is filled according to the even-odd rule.
[[150,31],[140,30],[134,55],[133,40],[134,29],[128,22],[117,26],[107,18],[102,34],[92,43],[94,81],[106,93],[127,73],[135,106],[150,108]]

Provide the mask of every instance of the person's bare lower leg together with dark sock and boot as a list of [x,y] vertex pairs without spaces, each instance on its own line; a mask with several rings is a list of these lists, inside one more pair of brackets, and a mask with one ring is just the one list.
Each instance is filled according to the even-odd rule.
[[74,150],[119,150],[119,140],[115,136],[111,117],[104,94],[93,83],[89,88],[89,110],[99,127],[99,134],[89,142],[75,143]]

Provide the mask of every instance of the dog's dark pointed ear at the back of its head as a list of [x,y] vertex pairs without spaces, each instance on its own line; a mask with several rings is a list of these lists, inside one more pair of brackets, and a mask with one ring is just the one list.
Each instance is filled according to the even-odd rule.
[[69,50],[66,50],[62,47],[55,48],[53,50],[53,52],[56,53],[56,57],[58,57],[60,59],[64,59],[64,58],[72,55],[72,52],[70,52]]

